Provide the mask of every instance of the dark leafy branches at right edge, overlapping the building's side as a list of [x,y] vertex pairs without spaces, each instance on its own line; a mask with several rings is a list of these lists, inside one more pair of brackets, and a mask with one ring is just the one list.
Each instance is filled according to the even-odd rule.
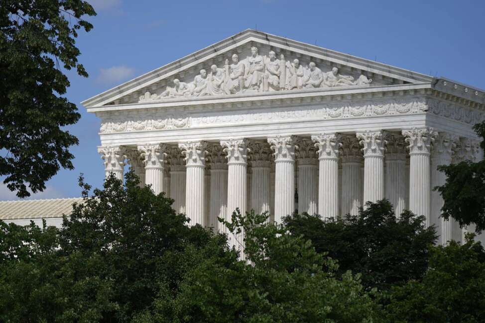
[[[485,149],[485,122],[474,129],[484,139],[480,146]],[[460,226],[475,223],[478,233],[485,230],[485,160],[462,161],[438,169],[447,177],[444,185],[435,188],[444,200],[441,216],[454,218]]]

